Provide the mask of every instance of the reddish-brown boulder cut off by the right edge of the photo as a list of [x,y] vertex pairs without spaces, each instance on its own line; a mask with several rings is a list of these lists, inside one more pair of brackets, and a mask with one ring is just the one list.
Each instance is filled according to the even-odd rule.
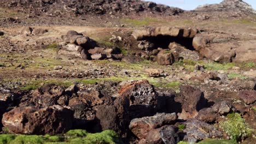
[[253,104],[256,101],[256,91],[244,90],[238,93],[239,98],[245,101],[246,104]]

